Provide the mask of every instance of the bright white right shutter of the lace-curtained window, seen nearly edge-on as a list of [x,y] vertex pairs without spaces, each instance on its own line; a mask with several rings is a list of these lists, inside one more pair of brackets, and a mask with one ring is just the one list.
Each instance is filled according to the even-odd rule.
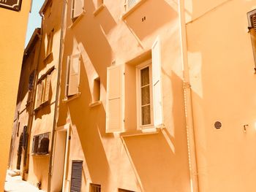
[[160,41],[157,39],[152,48],[152,83],[154,126],[159,127],[163,123],[162,118],[162,82],[161,82],[161,50]]

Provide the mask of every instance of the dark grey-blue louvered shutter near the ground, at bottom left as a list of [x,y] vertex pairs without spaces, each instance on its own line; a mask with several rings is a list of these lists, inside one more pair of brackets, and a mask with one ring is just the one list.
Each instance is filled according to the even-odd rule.
[[80,192],[82,184],[83,161],[72,161],[70,192]]

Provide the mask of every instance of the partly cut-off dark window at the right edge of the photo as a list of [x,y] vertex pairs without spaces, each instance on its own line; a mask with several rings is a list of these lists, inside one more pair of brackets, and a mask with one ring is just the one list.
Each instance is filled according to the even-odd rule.
[[255,72],[256,72],[256,9],[247,13],[249,32],[252,40],[252,51],[255,58]]

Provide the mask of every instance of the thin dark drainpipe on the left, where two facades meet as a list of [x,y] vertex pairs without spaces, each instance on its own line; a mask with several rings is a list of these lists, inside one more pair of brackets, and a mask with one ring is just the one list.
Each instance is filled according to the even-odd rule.
[[52,131],[52,138],[51,138],[51,147],[50,147],[50,164],[49,164],[49,175],[48,175],[48,192],[50,192],[50,180],[52,176],[52,169],[53,169],[53,149],[54,149],[54,138],[55,138],[55,128],[57,125],[57,117],[58,117],[58,109],[59,109],[59,92],[61,86],[61,63],[62,63],[62,51],[63,51],[63,34],[64,34],[64,16],[65,16],[65,9],[66,9],[66,0],[63,0],[62,5],[62,13],[61,13],[61,39],[59,42],[59,66],[58,66],[58,79],[57,79],[57,88],[56,88],[56,99],[55,99],[55,109],[54,109],[54,117],[53,117],[53,131]]

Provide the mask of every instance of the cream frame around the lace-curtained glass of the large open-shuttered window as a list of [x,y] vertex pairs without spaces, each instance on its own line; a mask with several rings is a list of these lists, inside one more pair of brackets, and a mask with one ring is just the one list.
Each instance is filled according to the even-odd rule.
[[[141,70],[149,68],[149,93],[150,93],[150,124],[142,123],[142,104],[141,104]],[[136,66],[136,107],[137,107],[137,129],[154,128],[154,103],[153,103],[153,84],[152,84],[152,61],[151,59],[144,61]]]

